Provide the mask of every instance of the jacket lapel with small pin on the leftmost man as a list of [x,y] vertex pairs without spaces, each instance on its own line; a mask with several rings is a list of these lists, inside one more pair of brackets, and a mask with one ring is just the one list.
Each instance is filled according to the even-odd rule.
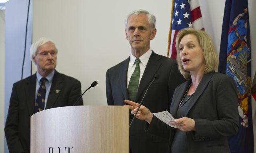
[[49,96],[46,103],[46,109],[53,108],[63,86],[62,77],[60,77],[60,73],[55,70],[52,85],[50,88]]

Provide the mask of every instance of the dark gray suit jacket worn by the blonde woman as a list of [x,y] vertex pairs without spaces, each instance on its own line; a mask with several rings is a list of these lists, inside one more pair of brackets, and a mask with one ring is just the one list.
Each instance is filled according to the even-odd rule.
[[[189,82],[190,80],[181,84],[174,92],[170,108],[170,114],[174,118]],[[196,131],[186,132],[188,153],[229,153],[227,136],[236,134],[239,127],[238,98],[234,79],[216,72],[204,75],[185,105],[189,105],[185,117],[194,119],[196,128]],[[169,137],[170,153],[172,138],[178,129],[170,128],[155,116],[150,126],[147,126],[148,132]]]

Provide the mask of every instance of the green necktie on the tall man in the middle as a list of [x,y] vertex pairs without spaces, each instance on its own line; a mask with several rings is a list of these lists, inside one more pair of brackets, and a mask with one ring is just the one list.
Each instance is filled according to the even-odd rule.
[[134,72],[132,73],[132,77],[130,78],[130,82],[128,85],[128,96],[129,100],[135,101],[139,80],[140,80],[140,59],[137,58],[135,60],[136,67]]

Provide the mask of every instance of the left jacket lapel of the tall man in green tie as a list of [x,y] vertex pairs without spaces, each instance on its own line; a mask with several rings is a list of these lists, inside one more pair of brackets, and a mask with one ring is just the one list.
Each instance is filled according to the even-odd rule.
[[120,69],[119,69],[119,80],[122,92],[124,94],[124,99],[128,98],[128,91],[127,91],[127,70],[128,70],[128,64],[130,61],[130,57],[128,57],[126,60],[124,60],[121,63]]

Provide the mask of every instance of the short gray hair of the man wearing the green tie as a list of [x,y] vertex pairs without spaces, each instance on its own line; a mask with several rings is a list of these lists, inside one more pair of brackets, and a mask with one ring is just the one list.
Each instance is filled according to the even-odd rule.
[[156,28],[156,17],[146,10],[134,10],[130,14],[128,14],[127,18],[125,19],[125,28],[127,28],[127,21],[130,18],[130,16],[138,14],[145,14],[148,17],[148,22],[150,24],[151,29]]

